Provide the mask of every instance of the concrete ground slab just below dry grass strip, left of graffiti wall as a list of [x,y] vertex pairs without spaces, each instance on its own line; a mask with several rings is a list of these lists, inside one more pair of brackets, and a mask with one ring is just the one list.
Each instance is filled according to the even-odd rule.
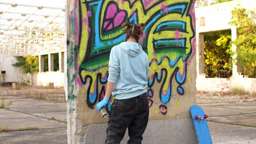
[[19,111],[22,113],[38,113],[38,112],[60,112],[66,111],[65,103],[52,103],[43,100],[34,99],[10,99],[6,102],[12,101],[12,105],[6,109]]

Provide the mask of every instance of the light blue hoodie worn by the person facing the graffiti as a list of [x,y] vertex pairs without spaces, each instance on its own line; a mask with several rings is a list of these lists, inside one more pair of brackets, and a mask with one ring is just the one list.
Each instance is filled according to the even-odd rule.
[[128,99],[147,92],[148,56],[135,42],[122,42],[110,52],[108,81],[115,83],[115,99]]

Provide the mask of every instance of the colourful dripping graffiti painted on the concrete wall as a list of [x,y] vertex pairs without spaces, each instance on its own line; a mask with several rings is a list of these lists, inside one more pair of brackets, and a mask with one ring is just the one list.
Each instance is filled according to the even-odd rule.
[[[150,76],[148,80],[149,106],[160,98],[159,112],[167,113],[172,98],[172,81],[178,83],[179,95],[184,95],[187,66],[195,55],[195,0],[77,0],[70,13],[71,41],[68,66],[74,67],[69,76],[71,89],[68,99],[76,98],[74,85],[89,83],[86,102],[90,108],[101,101],[108,77],[111,48],[125,41],[121,24],[145,23],[141,45],[148,54]],[[79,11],[78,11],[78,10]],[[157,83],[156,83],[157,81]],[[159,87],[153,88],[161,83]],[[110,105],[111,97],[107,105]],[[153,101],[154,100],[154,101]]]

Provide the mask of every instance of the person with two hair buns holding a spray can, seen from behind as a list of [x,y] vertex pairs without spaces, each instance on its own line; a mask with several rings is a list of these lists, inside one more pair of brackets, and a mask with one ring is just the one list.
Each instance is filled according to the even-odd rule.
[[111,105],[107,127],[106,144],[119,144],[128,127],[128,144],[141,144],[149,116],[147,84],[149,77],[148,56],[139,45],[145,24],[129,24],[126,42],[114,46],[109,58],[109,76],[104,99],[97,110],[105,106],[110,95],[115,97]]

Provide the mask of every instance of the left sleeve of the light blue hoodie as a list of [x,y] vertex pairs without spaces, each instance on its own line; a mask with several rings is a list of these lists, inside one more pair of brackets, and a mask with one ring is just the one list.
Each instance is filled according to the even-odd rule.
[[119,55],[115,47],[111,49],[109,62],[108,62],[108,81],[116,83],[117,77],[119,76]]

